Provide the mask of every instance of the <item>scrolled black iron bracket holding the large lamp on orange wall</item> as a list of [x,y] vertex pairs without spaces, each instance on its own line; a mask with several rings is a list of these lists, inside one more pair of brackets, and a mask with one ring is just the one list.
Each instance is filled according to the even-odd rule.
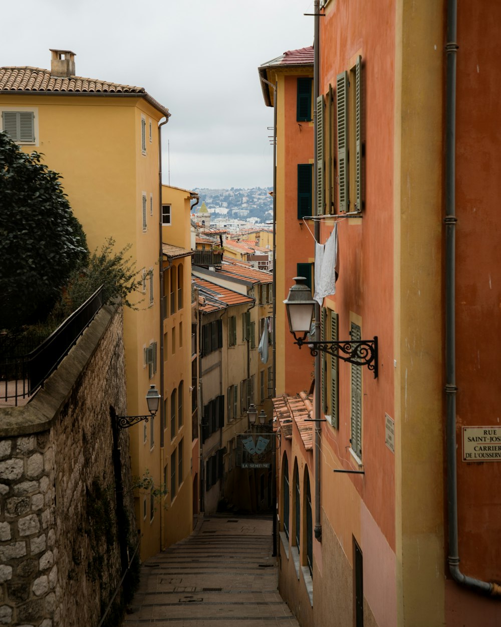
[[374,379],[378,378],[378,336],[374,335],[373,340],[329,340],[324,342],[314,342],[306,339],[305,333],[302,337],[297,337],[294,333],[294,339],[299,346],[306,344],[313,357],[319,352],[326,352],[332,357],[339,357],[343,361],[347,361],[355,366],[367,366],[369,370],[374,372]]

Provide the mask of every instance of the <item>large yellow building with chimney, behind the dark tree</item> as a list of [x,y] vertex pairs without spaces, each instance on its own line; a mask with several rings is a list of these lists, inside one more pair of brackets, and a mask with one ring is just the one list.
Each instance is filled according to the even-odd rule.
[[[43,153],[48,167],[61,173],[91,250],[110,236],[117,249],[131,245],[142,293],[138,310],[124,312],[127,413],[145,414],[148,387],[160,389],[158,164],[160,125],[170,114],[143,88],[75,76],[75,53],[51,52],[50,71],[0,68],[0,129],[8,130],[24,151]],[[130,436],[133,475],[148,471],[160,486],[158,414],[132,426]],[[161,548],[161,510],[149,494],[137,494],[142,559]]]

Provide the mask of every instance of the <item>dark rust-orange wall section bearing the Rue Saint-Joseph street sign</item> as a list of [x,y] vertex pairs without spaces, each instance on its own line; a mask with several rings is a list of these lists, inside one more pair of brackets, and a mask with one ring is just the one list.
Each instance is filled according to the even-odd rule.
[[[501,460],[462,461],[462,426],[500,426],[501,4],[458,3],[456,215],[457,466],[460,569],[501,580]],[[448,587],[450,590],[450,587]],[[472,601],[453,594],[450,603]],[[477,603],[478,605],[478,603]],[[487,608],[487,604],[486,604]],[[487,609],[486,609],[487,611]],[[501,608],[498,606],[498,620]],[[451,622],[450,624],[454,624]],[[468,625],[473,625],[470,619]],[[488,622],[482,624],[500,624]]]

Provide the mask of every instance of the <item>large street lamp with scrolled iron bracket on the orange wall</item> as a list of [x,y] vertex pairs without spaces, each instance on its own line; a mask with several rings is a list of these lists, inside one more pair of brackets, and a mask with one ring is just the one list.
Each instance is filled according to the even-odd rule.
[[378,337],[373,340],[323,340],[314,342],[307,339],[311,330],[311,320],[315,301],[311,297],[311,290],[306,285],[306,278],[294,277],[296,285],[292,285],[284,304],[289,319],[289,329],[299,348],[306,344],[312,356],[319,352],[326,352],[333,357],[339,357],[355,366],[367,366],[374,372],[374,379],[378,376]]

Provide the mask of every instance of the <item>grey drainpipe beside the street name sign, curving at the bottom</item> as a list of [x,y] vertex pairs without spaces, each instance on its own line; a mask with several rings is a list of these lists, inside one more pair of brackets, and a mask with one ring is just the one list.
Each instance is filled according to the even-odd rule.
[[445,363],[447,395],[447,508],[449,571],[453,579],[477,592],[501,596],[501,586],[464,575],[459,569],[456,451],[456,331],[455,331],[455,150],[457,0],[447,3],[447,100],[445,127]]

